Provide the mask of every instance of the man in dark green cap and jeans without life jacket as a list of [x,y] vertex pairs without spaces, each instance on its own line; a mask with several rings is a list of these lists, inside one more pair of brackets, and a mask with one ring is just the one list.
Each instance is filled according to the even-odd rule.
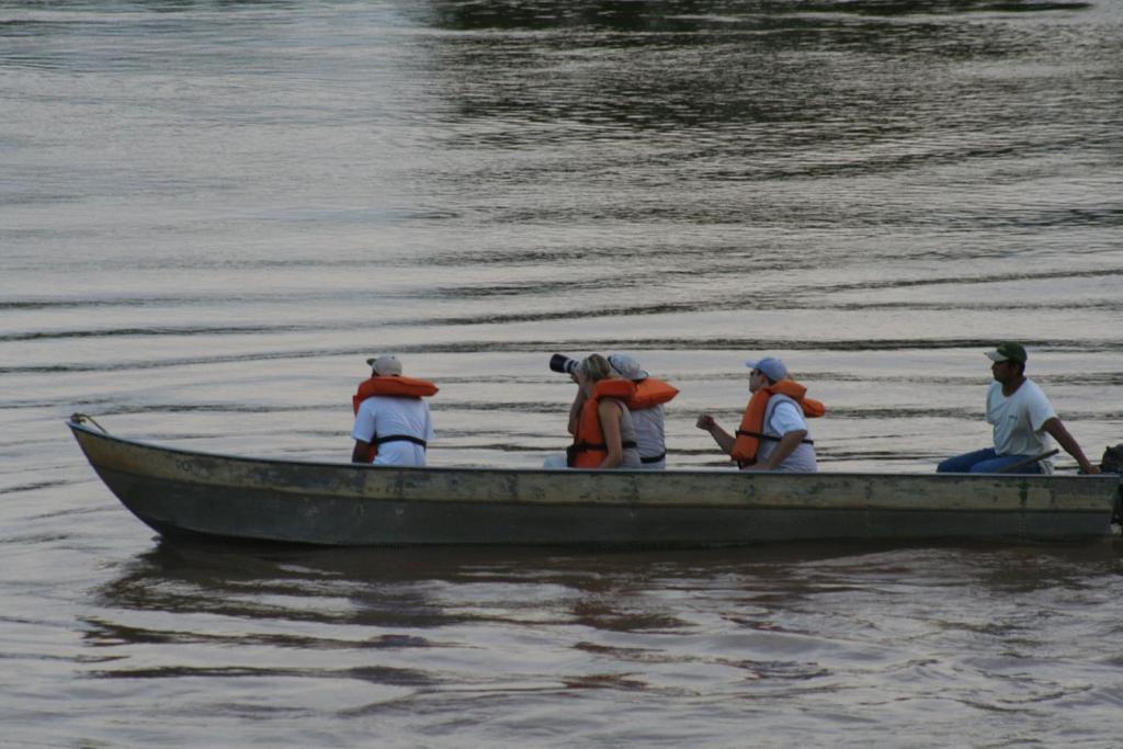
[[993,363],[994,382],[986,395],[986,420],[994,427],[994,447],[948,458],[937,466],[940,473],[1003,473],[1021,465],[1016,473],[1052,473],[1048,458],[1032,458],[1052,449],[1052,436],[1080,464],[1081,473],[1099,473],[1085,457],[1035,382],[1025,376],[1025,348],[1003,342],[986,353]]

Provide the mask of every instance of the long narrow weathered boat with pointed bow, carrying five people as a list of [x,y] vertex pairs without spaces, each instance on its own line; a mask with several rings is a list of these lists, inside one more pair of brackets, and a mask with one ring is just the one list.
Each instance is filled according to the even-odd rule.
[[247,458],[69,426],[163,535],[334,546],[721,546],[1072,539],[1111,532],[1119,476],[396,468]]

